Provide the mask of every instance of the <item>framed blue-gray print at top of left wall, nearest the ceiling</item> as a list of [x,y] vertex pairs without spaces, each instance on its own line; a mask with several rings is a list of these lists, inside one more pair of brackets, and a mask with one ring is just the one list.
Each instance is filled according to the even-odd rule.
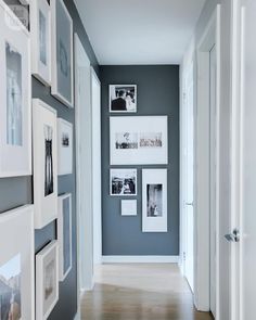
[[63,0],[51,0],[51,10],[52,94],[73,107],[73,21]]

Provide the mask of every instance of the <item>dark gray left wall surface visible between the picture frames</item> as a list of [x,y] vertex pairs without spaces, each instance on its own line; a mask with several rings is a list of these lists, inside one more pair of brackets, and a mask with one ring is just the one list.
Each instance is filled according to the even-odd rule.
[[[5,1],[8,4],[10,1]],[[75,4],[71,0],[64,1],[74,22],[74,33],[77,33],[87,51],[87,54],[99,73],[98,62],[91,44],[89,42],[86,30],[81,24]],[[12,1],[12,3],[15,3]],[[46,88],[35,78],[33,80],[33,98],[40,98],[46,103],[57,111],[57,116],[74,124],[75,112],[68,110],[61,102],[54,99],[50,89]],[[74,164],[75,164],[75,149],[74,149]],[[54,310],[49,317],[49,320],[73,320],[77,311],[77,257],[76,257],[76,190],[75,190],[75,166],[73,175],[63,176],[59,178],[59,194],[71,192],[73,195],[73,269],[64,282],[60,282],[60,299]],[[33,181],[31,177],[0,179],[0,213],[17,207],[24,204],[33,203]],[[55,221],[35,232],[36,252],[42,248],[49,241],[55,239]],[[29,320],[29,319],[27,319]]]

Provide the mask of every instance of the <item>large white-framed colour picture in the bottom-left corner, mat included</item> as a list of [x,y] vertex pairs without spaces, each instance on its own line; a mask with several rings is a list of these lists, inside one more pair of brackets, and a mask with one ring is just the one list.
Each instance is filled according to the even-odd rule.
[[0,319],[35,319],[34,209],[0,215]]

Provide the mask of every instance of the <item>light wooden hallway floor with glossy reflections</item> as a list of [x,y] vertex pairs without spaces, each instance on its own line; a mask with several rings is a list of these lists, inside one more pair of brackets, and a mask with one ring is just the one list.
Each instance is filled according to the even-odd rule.
[[177,265],[103,265],[81,300],[82,320],[212,320],[197,312]]

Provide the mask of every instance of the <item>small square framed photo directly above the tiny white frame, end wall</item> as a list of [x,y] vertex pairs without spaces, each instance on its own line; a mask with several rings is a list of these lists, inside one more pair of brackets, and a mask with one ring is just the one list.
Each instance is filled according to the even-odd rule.
[[137,169],[111,169],[111,195],[137,195]]

